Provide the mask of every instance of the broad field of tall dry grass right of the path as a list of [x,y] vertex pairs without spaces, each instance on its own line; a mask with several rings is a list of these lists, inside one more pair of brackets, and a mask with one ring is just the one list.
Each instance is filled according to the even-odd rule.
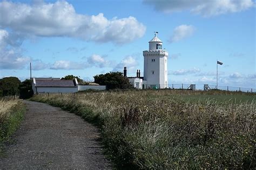
[[254,98],[163,90],[51,94],[32,100],[97,123],[118,167],[170,169],[255,168]]

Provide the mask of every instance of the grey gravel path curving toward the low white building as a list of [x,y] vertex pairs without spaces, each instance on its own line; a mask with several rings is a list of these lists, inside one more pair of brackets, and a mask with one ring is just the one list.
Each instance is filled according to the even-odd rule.
[[0,169],[111,169],[97,128],[75,114],[25,101],[26,114]]

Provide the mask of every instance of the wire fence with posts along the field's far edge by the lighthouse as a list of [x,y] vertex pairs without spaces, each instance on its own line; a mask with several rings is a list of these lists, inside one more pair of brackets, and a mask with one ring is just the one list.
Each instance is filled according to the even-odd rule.
[[217,86],[208,84],[144,84],[143,89],[176,89],[176,90],[224,90],[224,91],[236,91],[256,93],[256,89],[248,87],[234,87],[234,86]]

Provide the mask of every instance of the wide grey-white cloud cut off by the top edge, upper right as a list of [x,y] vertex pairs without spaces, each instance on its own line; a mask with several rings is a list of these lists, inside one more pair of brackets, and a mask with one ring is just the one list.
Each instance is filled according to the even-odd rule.
[[165,13],[191,11],[204,17],[217,16],[225,13],[240,12],[252,8],[253,0],[144,0],[145,4],[152,5],[157,11]]

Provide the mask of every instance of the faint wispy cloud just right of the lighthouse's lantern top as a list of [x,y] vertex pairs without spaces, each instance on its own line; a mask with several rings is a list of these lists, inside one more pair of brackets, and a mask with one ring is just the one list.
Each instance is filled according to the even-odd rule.
[[170,42],[178,42],[181,39],[190,37],[193,35],[196,29],[193,25],[179,25],[173,30],[173,35],[170,39]]

